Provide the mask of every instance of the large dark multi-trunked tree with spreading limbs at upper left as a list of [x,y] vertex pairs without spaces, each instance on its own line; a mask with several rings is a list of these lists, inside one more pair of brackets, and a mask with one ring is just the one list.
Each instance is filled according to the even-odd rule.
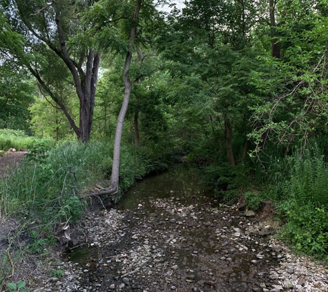
[[[69,40],[86,28],[81,24],[80,15],[92,4],[92,0],[50,3],[35,0],[1,1],[11,29],[26,37],[24,52],[9,48],[10,57],[32,73],[44,93],[64,112],[77,138],[83,142],[90,139],[101,54],[86,42],[70,44]],[[59,66],[52,66],[54,60]],[[69,72],[69,77],[66,72]],[[60,77],[63,77],[61,82],[68,82],[75,87],[79,99],[79,126],[64,100],[54,90],[61,86],[61,82],[54,82]]]

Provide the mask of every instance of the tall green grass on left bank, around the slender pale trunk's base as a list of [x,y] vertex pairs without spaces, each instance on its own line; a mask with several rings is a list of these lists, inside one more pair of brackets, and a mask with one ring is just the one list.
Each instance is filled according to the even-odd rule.
[[[133,149],[122,145],[120,190],[144,176],[151,163],[142,151]],[[76,221],[90,190],[110,178],[112,156],[113,143],[108,141],[66,142],[53,149],[37,143],[21,167],[0,181],[2,214],[36,221],[43,232]]]

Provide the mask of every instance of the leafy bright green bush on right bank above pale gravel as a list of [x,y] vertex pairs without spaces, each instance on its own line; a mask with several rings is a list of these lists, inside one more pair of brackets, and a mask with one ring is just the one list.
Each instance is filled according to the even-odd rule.
[[293,156],[291,177],[284,184],[280,215],[286,222],[282,237],[309,255],[328,255],[328,167],[314,149]]

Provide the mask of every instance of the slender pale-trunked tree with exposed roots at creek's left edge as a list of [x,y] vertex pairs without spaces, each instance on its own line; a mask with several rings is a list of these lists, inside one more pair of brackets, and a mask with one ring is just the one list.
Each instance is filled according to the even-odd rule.
[[[110,186],[107,190],[99,192],[99,194],[115,194],[115,202],[117,202],[118,199],[119,156],[121,152],[124,118],[128,109],[131,89],[136,82],[136,80],[131,81],[129,70],[133,52],[135,51],[134,44],[141,3],[142,0],[137,0],[133,8],[132,4],[128,1],[119,3],[113,0],[99,1],[94,3],[93,9],[90,10],[90,13],[85,19],[86,22],[93,19],[94,26],[90,28],[86,34],[92,37],[93,41],[99,47],[102,47],[104,50],[108,50],[109,48],[110,50],[125,54],[123,67],[124,99],[117,117]],[[132,16],[129,16],[129,13],[131,13]],[[123,22],[119,22],[120,20]],[[118,28],[120,28],[120,30]]]

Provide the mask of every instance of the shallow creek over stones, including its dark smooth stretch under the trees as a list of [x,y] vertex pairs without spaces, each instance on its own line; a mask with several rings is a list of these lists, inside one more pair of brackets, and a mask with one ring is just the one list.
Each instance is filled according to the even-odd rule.
[[[264,291],[284,260],[257,217],[220,205],[192,165],[147,177],[84,220],[68,261],[77,291]],[[267,290],[269,291],[269,290]]]

